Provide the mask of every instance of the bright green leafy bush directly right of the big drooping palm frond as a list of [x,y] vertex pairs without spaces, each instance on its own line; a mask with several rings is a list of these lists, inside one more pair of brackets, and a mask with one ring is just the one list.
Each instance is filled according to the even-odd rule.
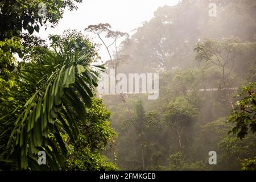
[[71,150],[64,169],[116,170],[117,167],[100,154],[100,151],[108,151],[114,145],[113,137],[116,134],[109,129],[110,112],[105,109],[101,100],[94,98],[92,107],[86,109],[86,114],[86,123],[79,124],[81,134],[78,135],[77,142],[74,144],[65,135],[65,142]]

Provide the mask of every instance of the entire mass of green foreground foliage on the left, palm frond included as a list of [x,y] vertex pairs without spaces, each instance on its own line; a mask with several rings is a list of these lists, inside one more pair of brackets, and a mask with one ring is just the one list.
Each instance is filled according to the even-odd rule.
[[[39,2],[47,4],[46,16],[37,14]],[[101,154],[116,134],[94,92],[104,69],[93,65],[95,45],[75,30],[49,36],[49,48],[22,33],[39,31],[39,23],[56,26],[65,7],[76,9],[73,1],[0,5],[0,169],[117,169]],[[46,165],[39,165],[39,151],[46,152]]]

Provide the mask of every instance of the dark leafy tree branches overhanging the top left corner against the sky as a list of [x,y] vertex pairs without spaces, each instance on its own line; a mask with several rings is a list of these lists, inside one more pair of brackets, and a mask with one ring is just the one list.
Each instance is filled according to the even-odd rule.
[[[22,28],[29,34],[39,32],[43,25],[56,26],[63,17],[64,9],[77,9],[74,2],[81,3],[82,0],[11,0],[0,2],[0,40],[12,36],[22,36]],[[45,14],[41,13],[44,11]],[[41,14],[40,14],[41,13]]]

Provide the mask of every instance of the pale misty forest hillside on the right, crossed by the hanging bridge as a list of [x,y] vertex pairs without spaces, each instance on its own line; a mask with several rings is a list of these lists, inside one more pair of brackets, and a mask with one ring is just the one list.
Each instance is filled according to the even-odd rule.
[[[208,15],[208,5],[201,0],[159,7],[119,48],[119,56],[129,59],[117,72],[159,73],[155,101],[129,94],[125,105],[118,96],[104,96],[119,133],[119,168],[255,169],[256,4],[221,1],[216,17]],[[134,100],[158,116],[158,130],[144,131],[144,156],[135,130],[123,132]],[[216,151],[216,165],[208,163],[209,151]]]

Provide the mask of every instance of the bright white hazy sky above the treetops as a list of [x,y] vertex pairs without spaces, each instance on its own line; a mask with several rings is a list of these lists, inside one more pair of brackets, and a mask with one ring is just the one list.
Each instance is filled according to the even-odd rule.
[[[150,20],[159,6],[175,5],[179,0],[84,0],[76,11],[65,10],[63,18],[55,28],[40,29],[40,37],[61,34],[68,28],[85,34],[89,24],[110,23],[113,30],[130,32]],[[97,42],[97,39],[94,39]],[[102,59],[108,59],[105,49],[100,50]]]

